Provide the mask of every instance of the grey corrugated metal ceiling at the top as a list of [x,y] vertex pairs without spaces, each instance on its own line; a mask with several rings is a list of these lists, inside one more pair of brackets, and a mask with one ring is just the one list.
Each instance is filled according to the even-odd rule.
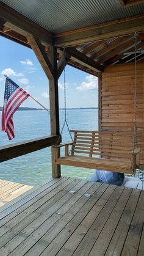
[[121,7],[118,0],[2,0],[52,34],[144,13],[144,4]]

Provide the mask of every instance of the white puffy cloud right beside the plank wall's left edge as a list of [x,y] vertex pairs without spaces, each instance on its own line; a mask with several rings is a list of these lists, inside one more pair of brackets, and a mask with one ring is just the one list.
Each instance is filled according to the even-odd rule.
[[86,76],[85,79],[87,80],[87,82],[82,82],[81,86],[76,87],[76,90],[93,90],[98,87],[98,78],[96,78],[96,76],[89,75]]

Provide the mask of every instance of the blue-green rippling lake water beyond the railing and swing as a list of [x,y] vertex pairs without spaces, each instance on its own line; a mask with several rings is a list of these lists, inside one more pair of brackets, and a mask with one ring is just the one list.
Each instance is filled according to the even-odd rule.
[[[1,112],[0,112],[1,114]],[[0,115],[1,118],[1,115]],[[50,119],[46,111],[16,111],[14,115],[15,139],[9,141],[7,134],[0,132],[0,145],[26,141],[50,134]],[[64,111],[60,110],[60,126]],[[67,121],[71,130],[98,130],[98,109],[67,110]],[[63,130],[63,142],[70,142],[67,128]],[[90,178],[95,172],[72,166],[61,166],[62,176]],[[36,185],[51,177],[51,147],[0,163],[0,179]]]

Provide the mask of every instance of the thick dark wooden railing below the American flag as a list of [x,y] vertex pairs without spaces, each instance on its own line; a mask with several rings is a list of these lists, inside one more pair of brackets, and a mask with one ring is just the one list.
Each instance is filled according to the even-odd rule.
[[57,144],[59,135],[45,136],[0,147],[0,163]]

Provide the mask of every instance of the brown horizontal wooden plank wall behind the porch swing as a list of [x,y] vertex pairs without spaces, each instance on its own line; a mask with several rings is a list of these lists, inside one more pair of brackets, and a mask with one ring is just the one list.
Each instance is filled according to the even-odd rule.
[[[144,62],[137,62],[137,130],[143,127]],[[102,74],[101,130],[133,131],[134,63],[110,65]]]

